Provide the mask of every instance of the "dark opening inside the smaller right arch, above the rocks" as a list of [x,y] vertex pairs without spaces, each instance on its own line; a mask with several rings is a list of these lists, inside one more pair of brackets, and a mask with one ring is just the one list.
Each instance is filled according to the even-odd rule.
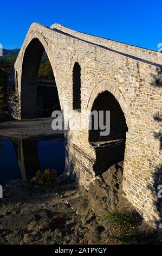
[[124,160],[126,131],[128,131],[128,128],[119,102],[108,91],[100,93],[96,97],[93,102],[92,111],[98,113],[98,118],[100,117],[99,111],[103,111],[103,124],[106,126],[108,125],[106,122],[106,111],[109,111],[110,114],[110,132],[108,135],[101,135],[100,127],[95,129],[95,117],[93,118],[93,115],[92,129],[89,129],[89,142],[96,153],[94,171],[96,175],[100,175],[113,164]]

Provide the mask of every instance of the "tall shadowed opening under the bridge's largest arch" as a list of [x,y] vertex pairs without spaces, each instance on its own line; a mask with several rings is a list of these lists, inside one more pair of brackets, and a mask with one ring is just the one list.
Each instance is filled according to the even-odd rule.
[[25,50],[21,80],[21,118],[50,117],[60,110],[55,77],[41,42],[34,38]]

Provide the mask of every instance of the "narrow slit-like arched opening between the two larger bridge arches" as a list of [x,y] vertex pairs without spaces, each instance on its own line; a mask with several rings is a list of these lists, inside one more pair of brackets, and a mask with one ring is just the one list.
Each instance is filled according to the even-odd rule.
[[77,62],[73,68],[73,109],[81,109],[81,68]]

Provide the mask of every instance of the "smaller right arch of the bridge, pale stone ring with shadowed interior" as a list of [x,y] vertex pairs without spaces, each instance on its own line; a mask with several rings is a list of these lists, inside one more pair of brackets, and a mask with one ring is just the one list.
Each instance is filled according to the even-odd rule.
[[[106,103],[107,102],[107,103]],[[89,97],[87,110],[111,110],[111,132],[100,136],[99,130],[89,130],[88,140],[95,150],[94,172],[99,175],[113,164],[124,160],[126,133],[132,127],[131,115],[121,91],[108,81],[100,82]],[[90,119],[89,119],[90,120]]]

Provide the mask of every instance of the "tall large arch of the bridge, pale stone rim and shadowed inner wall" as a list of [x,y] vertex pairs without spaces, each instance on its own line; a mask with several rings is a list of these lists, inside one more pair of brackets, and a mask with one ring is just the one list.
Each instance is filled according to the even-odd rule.
[[[59,101],[61,105],[61,96],[59,88],[59,79],[57,78],[55,68],[55,58],[50,51],[50,46],[47,44],[44,36],[40,33],[30,33],[27,40],[24,41],[22,47],[21,58],[21,82],[20,82],[20,104],[21,104],[21,118],[35,118],[36,117],[36,87],[37,74],[40,67],[40,62],[43,52],[46,51],[53,74],[55,77],[57,90],[59,94]],[[62,109],[62,106],[61,106]]]

